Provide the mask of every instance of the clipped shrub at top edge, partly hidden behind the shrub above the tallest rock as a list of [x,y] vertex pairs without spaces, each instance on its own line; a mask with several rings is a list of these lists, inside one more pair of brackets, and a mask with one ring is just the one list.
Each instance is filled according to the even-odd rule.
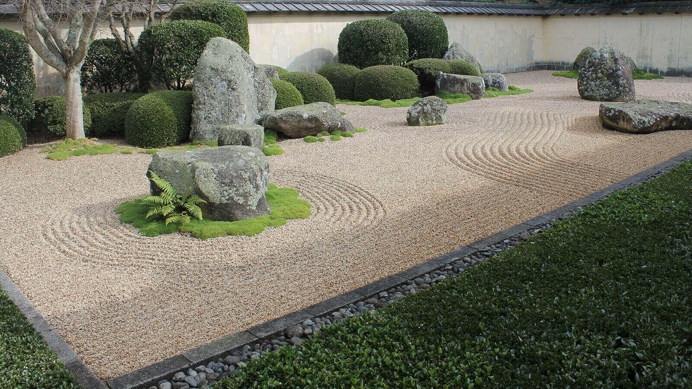
[[235,3],[229,1],[190,1],[171,13],[172,20],[203,20],[218,24],[226,32],[225,37],[250,53],[248,16]]

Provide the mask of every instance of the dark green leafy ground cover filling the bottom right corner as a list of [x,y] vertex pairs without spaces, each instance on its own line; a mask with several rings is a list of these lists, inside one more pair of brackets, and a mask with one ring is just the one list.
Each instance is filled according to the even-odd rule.
[[223,386],[690,386],[691,184],[685,163]]

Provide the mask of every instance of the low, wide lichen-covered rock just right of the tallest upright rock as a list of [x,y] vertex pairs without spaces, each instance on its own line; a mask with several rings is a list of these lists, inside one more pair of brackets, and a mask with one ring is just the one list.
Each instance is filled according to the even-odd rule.
[[354,132],[353,124],[328,102],[313,102],[264,114],[262,125],[290,138],[304,138],[337,129],[340,132]]

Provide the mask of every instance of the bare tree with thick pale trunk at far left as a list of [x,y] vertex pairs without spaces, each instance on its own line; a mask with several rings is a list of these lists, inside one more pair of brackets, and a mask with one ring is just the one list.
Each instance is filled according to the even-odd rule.
[[[65,82],[65,129],[68,138],[84,138],[80,72],[101,19],[115,0],[19,0],[24,35],[46,64]],[[66,35],[59,24],[69,25]]]

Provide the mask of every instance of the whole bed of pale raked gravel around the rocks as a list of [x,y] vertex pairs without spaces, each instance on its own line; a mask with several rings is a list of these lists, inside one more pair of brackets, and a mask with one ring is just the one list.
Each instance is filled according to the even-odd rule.
[[[605,130],[598,102],[549,71],[534,93],[406,108],[339,106],[369,132],[282,142],[271,182],[313,215],[254,237],[143,237],[113,209],[147,193],[151,156],[0,159],[0,266],[97,374],[110,379],[424,262],[692,148],[692,133]],[[692,102],[692,80],[635,81]]]

